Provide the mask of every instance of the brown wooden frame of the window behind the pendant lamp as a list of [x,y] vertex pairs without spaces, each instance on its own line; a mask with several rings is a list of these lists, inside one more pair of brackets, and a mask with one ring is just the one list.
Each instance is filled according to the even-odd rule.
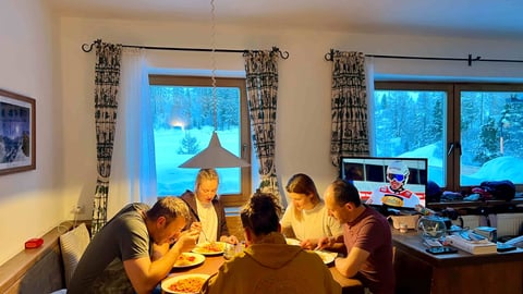
[[[199,86],[212,87],[210,76],[191,76],[191,75],[167,75],[149,74],[149,85],[158,86]],[[236,87],[240,88],[240,144],[241,157],[251,162],[251,120],[247,109],[247,90],[245,78],[243,77],[215,77],[216,87]],[[239,194],[220,194],[220,201],[226,207],[242,206],[250,197],[252,191],[252,168],[251,166],[240,168],[240,189]],[[223,179],[220,177],[220,182]],[[191,187],[187,187],[191,188]]]

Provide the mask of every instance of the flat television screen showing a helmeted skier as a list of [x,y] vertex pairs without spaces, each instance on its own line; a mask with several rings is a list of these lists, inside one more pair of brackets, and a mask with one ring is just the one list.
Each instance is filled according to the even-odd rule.
[[362,203],[394,209],[425,206],[426,158],[342,157],[340,177],[354,184]]

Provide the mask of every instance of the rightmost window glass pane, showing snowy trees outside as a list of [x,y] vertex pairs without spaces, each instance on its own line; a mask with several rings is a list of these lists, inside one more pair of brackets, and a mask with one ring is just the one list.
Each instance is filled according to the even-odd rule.
[[460,182],[523,183],[523,93],[461,91]]

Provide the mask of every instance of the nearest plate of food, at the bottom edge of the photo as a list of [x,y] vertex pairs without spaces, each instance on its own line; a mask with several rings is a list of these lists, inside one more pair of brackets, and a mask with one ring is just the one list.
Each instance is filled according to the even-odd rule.
[[171,275],[161,281],[161,290],[171,294],[197,294],[209,277],[205,273]]

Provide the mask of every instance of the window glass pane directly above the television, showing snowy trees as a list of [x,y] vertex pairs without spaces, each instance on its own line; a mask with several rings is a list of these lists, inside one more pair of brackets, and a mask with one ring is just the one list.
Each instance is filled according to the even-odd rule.
[[447,93],[376,89],[375,147],[378,157],[428,159],[428,180],[446,185]]

